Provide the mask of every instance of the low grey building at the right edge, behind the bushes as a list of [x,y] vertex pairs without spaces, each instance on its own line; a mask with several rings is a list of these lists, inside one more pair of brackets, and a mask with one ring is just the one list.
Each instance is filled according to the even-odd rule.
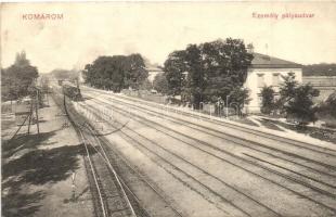
[[310,84],[313,88],[320,90],[320,95],[314,98],[314,102],[322,102],[329,94],[336,91],[336,76],[303,76],[303,84]]

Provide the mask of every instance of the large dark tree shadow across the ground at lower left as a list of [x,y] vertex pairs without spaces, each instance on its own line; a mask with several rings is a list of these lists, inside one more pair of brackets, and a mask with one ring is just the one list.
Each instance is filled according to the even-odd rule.
[[[2,146],[3,216],[34,216],[44,191],[23,193],[29,184],[40,186],[67,179],[79,167],[82,144],[40,150],[55,132],[25,135]],[[50,143],[49,143],[50,144]],[[46,187],[47,188],[47,187]]]

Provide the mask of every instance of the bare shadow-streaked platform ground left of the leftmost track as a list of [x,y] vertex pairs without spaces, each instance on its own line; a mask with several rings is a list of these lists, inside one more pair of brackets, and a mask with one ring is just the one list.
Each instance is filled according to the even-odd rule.
[[36,125],[29,135],[23,126],[2,141],[3,216],[94,216],[80,140],[49,101],[39,110],[39,135]]

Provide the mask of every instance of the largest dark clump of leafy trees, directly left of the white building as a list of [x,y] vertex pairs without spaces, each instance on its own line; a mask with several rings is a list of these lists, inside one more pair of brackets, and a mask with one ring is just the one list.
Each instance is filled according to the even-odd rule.
[[233,91],[238,92],[251,60],[253,55],[238,39],[189,44],[185,50],[169,54],[165,62],[165,75],[172,94],[185,94],[198,108],[201,101],[217,102]]

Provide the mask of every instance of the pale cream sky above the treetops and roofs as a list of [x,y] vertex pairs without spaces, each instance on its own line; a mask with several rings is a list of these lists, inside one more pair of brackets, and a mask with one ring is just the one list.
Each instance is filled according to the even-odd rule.
[[[336,63],[336,2],[49,2],[1,7],[2,68],[13,64],[22,50],[40,73],[81,69],[100,55],[130,53],[141,53],[163,65],[170,52],[189,43],[228,37],[253,43],[256,52],[300,64]],[[286,13],[313,17],[282,18]],[[25,20],[25,14],[62,14],[63,18]]]

